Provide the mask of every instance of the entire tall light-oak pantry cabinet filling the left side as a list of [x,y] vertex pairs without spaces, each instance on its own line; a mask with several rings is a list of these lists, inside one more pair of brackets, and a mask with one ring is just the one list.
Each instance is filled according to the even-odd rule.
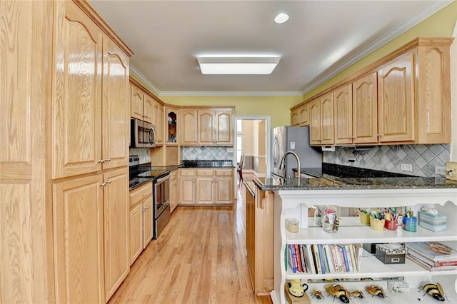
[[7,2],[0,302],[105,303],[129,272],[133,53],[85,1]]

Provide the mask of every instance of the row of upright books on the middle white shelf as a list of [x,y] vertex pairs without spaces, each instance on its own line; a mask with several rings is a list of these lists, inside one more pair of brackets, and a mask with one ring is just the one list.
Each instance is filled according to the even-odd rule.
[[286,259],[293,273],[340,273],[361,267],[361,244],[289,244]]

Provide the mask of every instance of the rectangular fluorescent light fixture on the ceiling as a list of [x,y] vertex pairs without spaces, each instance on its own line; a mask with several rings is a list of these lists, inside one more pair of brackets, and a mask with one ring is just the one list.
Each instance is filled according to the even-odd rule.
[[280,56],[197,56],[201,74],[268,75]]

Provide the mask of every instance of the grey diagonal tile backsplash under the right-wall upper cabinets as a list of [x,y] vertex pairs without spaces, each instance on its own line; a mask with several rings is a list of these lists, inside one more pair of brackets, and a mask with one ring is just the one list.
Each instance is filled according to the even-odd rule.
[[[373,146],[363,151],[336,147],[334,152],[323,152],[323,161],[412,176],[433,177],[436,176],[435,166],[446,166],[446,162],[450,160],[450,151],[449,144]],[[402,163],[411,164],[412,171],[402,171]]]

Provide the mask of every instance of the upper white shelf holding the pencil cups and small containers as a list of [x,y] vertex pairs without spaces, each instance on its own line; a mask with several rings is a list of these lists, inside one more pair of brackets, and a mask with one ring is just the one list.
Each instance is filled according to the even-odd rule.
[[286,230],[287,244],[333,244],[333,243],[396,243],[424,241],[457,240],[456,231],[449,228],[446,231],[433,232],[417,226],[417,232],[408,232],[398,227],[397,230],[376,231],[370,226],[359,223],[358,217],[341,218],[341,226],[336,233],[326,233],[321,227],[309,227],[291,233]]

